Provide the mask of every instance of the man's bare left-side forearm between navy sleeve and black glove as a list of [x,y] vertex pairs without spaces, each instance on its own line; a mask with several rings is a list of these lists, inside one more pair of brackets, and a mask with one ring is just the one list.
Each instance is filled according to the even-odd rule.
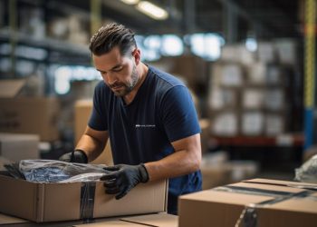
[[91,162],[102,153],[106,143],[101,143],[90,135],[83,134],[75,149],[80,149],[86,153],[88,162]]

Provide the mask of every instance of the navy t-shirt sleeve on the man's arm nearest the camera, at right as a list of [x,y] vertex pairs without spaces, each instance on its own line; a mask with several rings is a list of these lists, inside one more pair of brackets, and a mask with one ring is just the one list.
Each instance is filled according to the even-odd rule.
[[170,142],[200,133],[195,105],[185,86],[178,85],[168,90],[163,98],[161,114]]

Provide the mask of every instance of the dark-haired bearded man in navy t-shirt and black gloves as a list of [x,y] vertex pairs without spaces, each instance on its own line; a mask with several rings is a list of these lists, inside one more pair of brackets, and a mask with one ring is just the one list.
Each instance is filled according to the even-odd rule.
[[115,165],[105,168],[105,191],[120,199],[138,183],[169,179],[168,212],[177,213],[178,195],[201,190],[200,127],[187,87],[143,64],[133,32],[123,25],[101,27],[90,50],[103,82],[75,151],[60,159],[90,162],[110,138]]

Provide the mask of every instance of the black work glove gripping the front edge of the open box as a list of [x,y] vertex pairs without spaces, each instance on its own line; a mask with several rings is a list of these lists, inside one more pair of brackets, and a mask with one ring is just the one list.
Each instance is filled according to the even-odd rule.
[[120,200],[138,183],[146,183],[149,181],[149,173],[144,164],[128,165],[117,164],[103,168],[107,175],[101,177],[106,193],[116,194],[116,199]]

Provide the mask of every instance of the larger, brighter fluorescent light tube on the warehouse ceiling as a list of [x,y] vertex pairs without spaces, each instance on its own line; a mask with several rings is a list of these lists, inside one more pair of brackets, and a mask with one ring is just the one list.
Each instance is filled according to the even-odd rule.
[[149,15],[156,20],[165,20],[168,18],[168,12],[158,5],[154,5],[148,1],[141,1],[136,5],[137,9],[145,15]]

